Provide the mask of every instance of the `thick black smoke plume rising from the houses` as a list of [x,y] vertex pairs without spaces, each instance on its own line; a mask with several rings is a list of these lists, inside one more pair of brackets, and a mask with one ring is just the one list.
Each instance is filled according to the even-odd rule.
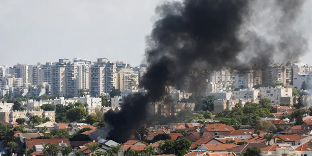
[[[292,6],[285,7],[280,1],[274,1],[275,5],[270,7],[280,10],[292,9]],[[298,2],[296,7],[300,4]],[[149,67],[140,82],[148,93],[130,96],[126,98],[121,111],[109,111],[105,114],[105,121],[111,127],[109,138],[117,142],[127,141],[134,129],[147,118],[147,103],[164,95],[165,86],[182,88],[194,69],[241,66],[249,63],[241,63],[241,58],[248,58],[248,55],[250,58],[247,61],[252,61],[252,64],[263,63],[262,60],[265,59],[271,60],[271,56],[276,52],[275,44],[268,43],[265,37],[245,24],[248,18],[254,16],[252,9],[256,7],[248,0],[184,0],[166,2],[158,6],[157,20],[147,38],[145,54]],[[283,26],[293,22],[294,20],[287,19],[293,19],[295,16],[294,13],[293,16],[278,18],[284,22],[281,24]],[[241,28],[248,30],[241,31]],[[286,31],[293,30],[288,26],[282,28],[287,28]],[[279,34],[287,34],[287,40],[280,39],[278,42],[281,47],[286,48],[285,50],[289,50],[285,51],[286,56],[295,53],[289,47],[300,49],[293,47],[297,44],[287,44],[293,39],[293,32]],[[250,38],[242,40],[242,36]],[[257,61],[257,57],[260,60]]]

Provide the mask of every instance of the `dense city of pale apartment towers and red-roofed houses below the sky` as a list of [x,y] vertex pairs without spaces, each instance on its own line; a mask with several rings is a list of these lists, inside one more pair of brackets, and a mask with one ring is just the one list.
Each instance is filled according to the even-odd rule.
[[147,104],[144,124],[114,139],[105,114],[148,94],[140,86],[148,68],[105,58],[1,66],[1,154],[312,155],[312,66],[290,61],[198,69],[204,90],[166,86],[161,100]]

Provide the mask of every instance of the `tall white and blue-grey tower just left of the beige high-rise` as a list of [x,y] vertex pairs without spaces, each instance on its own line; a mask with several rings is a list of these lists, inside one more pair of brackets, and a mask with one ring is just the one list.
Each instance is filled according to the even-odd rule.
[[116,64],[106,58],[98,58],[90,68],[90,90],[92,96],[108,93],[117,86]]

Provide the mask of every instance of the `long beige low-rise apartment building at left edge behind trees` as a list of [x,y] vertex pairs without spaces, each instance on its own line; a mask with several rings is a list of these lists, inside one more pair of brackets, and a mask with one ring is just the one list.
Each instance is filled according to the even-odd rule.
[[55,120],[54,111],[10,111],[10,112],[0,112],[0,121],[15,123],[17,118],[30,117],[32,115],[38,115],[41,118],[50,118],[51,121]]

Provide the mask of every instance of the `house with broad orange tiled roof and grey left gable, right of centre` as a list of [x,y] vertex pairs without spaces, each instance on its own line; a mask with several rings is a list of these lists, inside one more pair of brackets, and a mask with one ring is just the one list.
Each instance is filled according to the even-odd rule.
[[209,132],[212,136],[222,134],[224,132],[235,130],[232,126],[226,124],[205,124],[202,127],[202,132]]

